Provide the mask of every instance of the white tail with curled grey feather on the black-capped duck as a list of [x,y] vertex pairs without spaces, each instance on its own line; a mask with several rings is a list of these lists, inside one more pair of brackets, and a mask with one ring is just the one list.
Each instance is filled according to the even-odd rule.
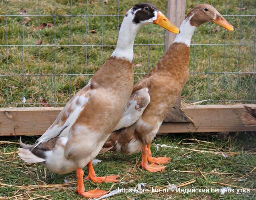
[[34,155],[31,152],[31,149],[34,147],[34,145],[26,145],[21,141],[20,137],[20,146],[22,148],[18,148],[18,155],[22,160],[28,163],[38,163],[38,162],[44,162],[44,158],[39,158],[38,156]]

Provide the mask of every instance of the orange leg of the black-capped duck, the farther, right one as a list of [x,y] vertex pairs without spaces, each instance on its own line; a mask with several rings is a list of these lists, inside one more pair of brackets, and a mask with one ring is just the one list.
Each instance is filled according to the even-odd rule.
[[88,168],[88,176],[85,178],[86,180],[90,179],[95,183],[102,183],[102,182],[119,182],[116,178],[120,178],[118,175],[111,175],[111,176],[96,176],[94,172],[94,168],[92,166],[92,161],[87,164]]

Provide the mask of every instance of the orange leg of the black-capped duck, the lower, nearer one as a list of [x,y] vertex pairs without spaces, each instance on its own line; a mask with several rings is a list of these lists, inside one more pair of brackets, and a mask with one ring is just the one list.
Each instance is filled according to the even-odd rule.
[[107,194],[105,190],[90,190],[88,192],[84,191],[84,171],[81,168],[76,169],[76,178],[77,178],[77,189],[75,192],[78,192],[84,198],[100,198],[102,195]]

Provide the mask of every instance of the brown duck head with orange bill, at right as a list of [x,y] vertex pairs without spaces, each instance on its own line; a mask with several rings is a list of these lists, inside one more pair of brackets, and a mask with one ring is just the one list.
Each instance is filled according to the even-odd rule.
[[186,18],[190,19],[192,26],[200,26],[205,22],[214,22],[227,30],[234,31],[235,28],[211,5],[200,4],[193,8]]

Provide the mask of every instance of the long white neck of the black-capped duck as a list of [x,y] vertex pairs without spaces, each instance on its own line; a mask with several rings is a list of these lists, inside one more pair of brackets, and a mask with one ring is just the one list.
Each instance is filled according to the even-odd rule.
[[132,18],[129,15],[124,17],[119,31],[116,49],[111,56],[132,62],[134,39],[140,28],[138,24],[132,23]]

